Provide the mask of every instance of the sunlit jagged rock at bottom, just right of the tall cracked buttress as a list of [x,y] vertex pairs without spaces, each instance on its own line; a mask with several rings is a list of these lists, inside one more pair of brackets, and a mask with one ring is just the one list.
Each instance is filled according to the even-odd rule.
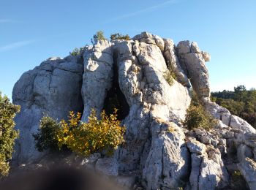
[[228,174],[218,149],[193,138],[187,140],[187,147],[192,153],[189,177],[191,189],[217,189],[227,186]]

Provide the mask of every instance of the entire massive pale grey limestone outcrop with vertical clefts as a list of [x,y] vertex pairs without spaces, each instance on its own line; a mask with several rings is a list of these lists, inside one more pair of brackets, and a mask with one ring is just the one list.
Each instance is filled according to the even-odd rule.
[[[255,129],[210,101],[209,60],[196,42],[176,46],[171,39],[143,32],[127,41],[99,40],[78,56],[43,61],[13,89],[13,102],[22,107],[15,118],[20,139],[13,163],[37,163],[47,154],[35,150],[32,137],[43,113],[62,119],[79,111],[87,121],[91,109],[99,114],[116,95],[123,105],[125,145],[112,157],[94,154],[82,165],[129,188],[136,183],[144,189],[225,189],[230,173],[240,170],[254,189]],[[165,79],[167,72],[176,76],[172,84]],[[209,132],[189,132],[182,125],[191,86],[219,120]]]

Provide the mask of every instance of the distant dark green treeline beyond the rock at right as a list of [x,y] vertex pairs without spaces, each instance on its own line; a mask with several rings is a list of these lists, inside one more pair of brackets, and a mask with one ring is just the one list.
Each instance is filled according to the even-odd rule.
[[246,90],[245,86],[237,86],[234,91],[218,91],[211,93],[211,100],[226,107],[233,115],[238,115],[256,128],[256,89]]

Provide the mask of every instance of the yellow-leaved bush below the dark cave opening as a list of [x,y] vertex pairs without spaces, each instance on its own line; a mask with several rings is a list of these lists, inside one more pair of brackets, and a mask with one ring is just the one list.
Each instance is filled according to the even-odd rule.
[[59,146],[67,145],[67,148],[84,156],[103,150],[113,153],[124,142],[125,131],[117,120],[116,112],[108,116],[103,111],[98,120],[96,111],[92,110],[87,123],[80,123],[80,113],[75,115],[71,112],[68,123],[61,121]]

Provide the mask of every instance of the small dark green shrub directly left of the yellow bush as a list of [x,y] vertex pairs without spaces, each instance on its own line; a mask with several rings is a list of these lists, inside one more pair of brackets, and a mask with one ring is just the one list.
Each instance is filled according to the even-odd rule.
[[37,129],[37,134],[33,134],[34,140],[36,141],[36,148],[38,151],[42,152],[46,149],[50,151],[56,151],[58,147],[57,134],[59,132],[60,124],[48,115],[45,115]]

